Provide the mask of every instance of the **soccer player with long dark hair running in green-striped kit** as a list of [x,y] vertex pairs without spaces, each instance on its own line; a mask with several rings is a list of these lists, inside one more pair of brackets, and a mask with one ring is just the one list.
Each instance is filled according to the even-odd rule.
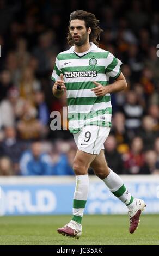
[[[78,239],[82,234],[82,216],[87,202],[91,166],[109,190],[129,209],[130,233],[134,233],[146,206],[135,199],[123,180],[107,166],[103,143],[111,127],[111,96],[127,87],[120,71],[121,61],[97,47],[102,29],[94,14],[77,10],[70,14],[68,44],[71,48],[56,58],[52,73],[53,95],[61,97],[66,89],[69,130],[78,150],[73,169],[76,175],[72,220],[58,233]],[[109,77],[114,82],[109,84]]]

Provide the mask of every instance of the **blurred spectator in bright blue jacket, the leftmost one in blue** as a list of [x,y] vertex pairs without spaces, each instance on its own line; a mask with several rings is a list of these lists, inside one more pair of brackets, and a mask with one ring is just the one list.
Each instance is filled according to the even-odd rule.
[[31,150],[25,151],[20,160],[21,175],[52,175],[51,157],[42,152],[42,143],[33,142]]

